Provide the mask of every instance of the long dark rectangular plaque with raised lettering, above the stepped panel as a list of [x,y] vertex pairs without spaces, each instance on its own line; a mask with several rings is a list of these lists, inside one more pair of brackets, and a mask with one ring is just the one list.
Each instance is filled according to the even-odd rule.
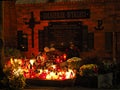
[[89,9],[40,12],[41,20],[88,19],[88,18],[90,18]]

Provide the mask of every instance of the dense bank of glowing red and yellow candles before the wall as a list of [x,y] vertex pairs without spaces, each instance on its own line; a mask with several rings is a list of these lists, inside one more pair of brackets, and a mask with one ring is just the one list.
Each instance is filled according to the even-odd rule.
[[[37,69],[34,65],[36,59],[30,59],[28,61],[22,61],[22,59],[10,59],[11,65],[14,64],[13,73],[18,76],[23,74],[25,78],[38,78],[41,80],[65,80],[74,79],[76,72],[69,68],[60,68],[59,65],[51,65],[44,69]],[[18,65],[18,63],[20,65]],[[18,68],[15,65],[18,65]],[[13,65],[12,65],[13,66]],[[29,68],[29,66],[32,68]]]

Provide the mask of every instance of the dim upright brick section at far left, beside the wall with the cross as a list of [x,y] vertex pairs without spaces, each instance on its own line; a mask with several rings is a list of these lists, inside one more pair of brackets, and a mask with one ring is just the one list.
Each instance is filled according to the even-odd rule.
[[15,2],[3,2],[3,29],[4,29],[4,43],[5,46],[16,47],[16,11]]

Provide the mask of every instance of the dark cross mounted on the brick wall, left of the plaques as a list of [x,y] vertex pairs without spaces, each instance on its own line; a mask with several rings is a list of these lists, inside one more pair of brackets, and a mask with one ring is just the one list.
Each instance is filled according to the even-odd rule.
[[35,21],[34,14],[31,12],[31,18],[29,22],[25,22],[26,25],[29,25],[29,28],[32,30],[32,48],[34,48],[34,27],[36,24],[40,24],[40,22]]

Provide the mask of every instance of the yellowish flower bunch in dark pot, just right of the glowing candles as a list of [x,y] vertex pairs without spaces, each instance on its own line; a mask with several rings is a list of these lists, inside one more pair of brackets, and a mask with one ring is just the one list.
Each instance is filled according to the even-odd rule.
[[98,86],[97,75],[98,75],[98,66],[96,64],[84,64],[79,68],[79,73],[76,78],[75,85],[97,88]]

